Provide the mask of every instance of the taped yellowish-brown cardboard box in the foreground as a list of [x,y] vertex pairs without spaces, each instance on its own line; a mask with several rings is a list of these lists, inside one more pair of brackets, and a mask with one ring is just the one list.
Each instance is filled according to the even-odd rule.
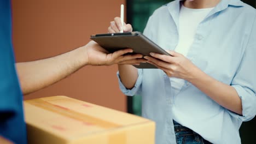
[[65,96],[24,101],[28,143],[155,142],[155,123],[146,118]]

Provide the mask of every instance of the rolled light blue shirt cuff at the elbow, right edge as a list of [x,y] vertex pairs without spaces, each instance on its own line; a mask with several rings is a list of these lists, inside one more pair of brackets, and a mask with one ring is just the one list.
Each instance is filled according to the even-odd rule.
[[249,89],[240,85],[232,85],[236,89],[242,100],[242,116],[229,111],[230,115],[240,119],[241,121],[250,121],[256,115],[256,95]]

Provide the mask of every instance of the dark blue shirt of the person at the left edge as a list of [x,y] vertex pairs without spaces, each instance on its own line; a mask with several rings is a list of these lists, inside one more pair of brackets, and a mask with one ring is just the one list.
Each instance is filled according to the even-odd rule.
[[0,135],[15,143],[26,143],[27,139],[11,41],[9,0],[0,1]]

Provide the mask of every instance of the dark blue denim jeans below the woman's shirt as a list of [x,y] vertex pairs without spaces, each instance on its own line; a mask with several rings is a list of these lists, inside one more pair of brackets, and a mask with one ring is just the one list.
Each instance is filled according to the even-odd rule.
[[174,131],[176,135],[176,143],[177,144],[208,144],[211,142],[206,141],[199,134],[195,133],[195,131],[183,127],[181,124],[173,121]]

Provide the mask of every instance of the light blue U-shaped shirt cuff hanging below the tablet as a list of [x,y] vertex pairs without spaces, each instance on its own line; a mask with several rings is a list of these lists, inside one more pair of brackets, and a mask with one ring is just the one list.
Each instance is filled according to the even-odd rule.
[[119,71],[117,72],[119,88],[125,95],[133,96],[133,95],[137,94],[137,92],[138,92],[138,90],[141,86],[141,83],[142,83],[142,69],[137,69],[137,70],[138,70],[138,78],[137,78],[137,81],[136,81],[136,83],[135,83],[135,85],[132,89],[127,89],[124,86],[124,84],[120,80]]

